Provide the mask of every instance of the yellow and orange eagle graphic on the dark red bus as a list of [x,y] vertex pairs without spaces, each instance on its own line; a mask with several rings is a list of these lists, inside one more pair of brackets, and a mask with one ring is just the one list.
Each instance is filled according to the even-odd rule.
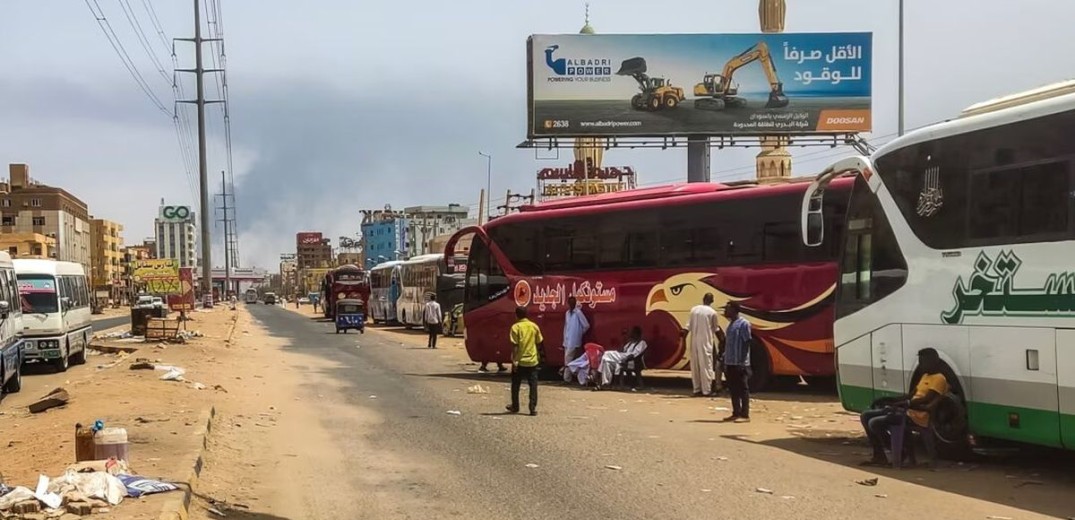
[[[798,365],[797,352],[825,353],[832,351],[831,328],[806,324],[815,318],[831,322],[831,305],[835,284],[811,300],[789,308],[766,308],[763,298],[721,288],[713,273],[680,273],[655,285],[646,297],[646,315],[665,313],[680,329],[687,328],[691,307],[702,303],[702,298],[713,294],[713,307],[722,309],[729,302],[741,304],[741,315],[750,322],[754,337],[765,350],[774,366]],[[826,313],[829,310],[829,313]],[[830,316],[823,316],[823,315]],[[727,329],[728,319],[719,315],[718,322]],[[800,326],[801,324],[801,326]],[[680,341],[660,359],[651,360],[657,366],[685,370],[690,366],[690,349]]]

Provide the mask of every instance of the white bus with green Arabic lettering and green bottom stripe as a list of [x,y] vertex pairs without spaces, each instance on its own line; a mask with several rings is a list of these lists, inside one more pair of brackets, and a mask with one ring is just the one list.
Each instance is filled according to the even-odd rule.
[[837,284],[840,396],[862,410],[946,364],[942,440],[1075,448],[1075,82],[973,105],[841,160],[803,199],[854,175]]

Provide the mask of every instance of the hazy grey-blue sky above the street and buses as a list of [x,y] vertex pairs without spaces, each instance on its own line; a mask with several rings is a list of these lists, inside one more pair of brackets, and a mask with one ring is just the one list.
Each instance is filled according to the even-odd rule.
[[[161,199],[197,204],[194,171],[188,174],[192,159],[183,159],[186,140],[177,139],[171,115],[169,42],[191,35],[194,4],[87,1],[3,2],[0,163],[29,163],[32,177],[75,193],[95,217],[123,223],[128,243],[140,243],[152,236]],[[478,151],[492,156],[493,205],[507,189],[534,187],[536,170],[570,160],[570,150],[516,145],[526,139],[527,37],[577,32],[582,0],[218,1],[244,266],[274,266],[280,254],[293,252],[296,232],[322,231],[333,243],[356,236],[361,210],[461,203],[476,211],[486,184]],[[897,0],[787,3],[788,32],[873,32],[874,131],[864,136],[876,144],[891,139],[899,92]],[[1075,54],[1064,49],[1075,2],[1018,3],[1012,9],[1009,0],[906,0],[908,129],[1073,76]],[[679,0],[659,16],[654,5],[593,0],[591,24],[598,33],[758,31],[757,0]],[[95,13],[103,13],[163,111],[131,78]],[[214,55],[210,45],[205,49],[206,57]],[[175,52],[181,68],[192,67],[191,44],[178,42]],[[182,85],[192,96],[190,77]],[[206,97],[217,92],[209,82]],[[194,120],[192,107],[180,110]],[[207,114],[216,193],[228,161],[219,105]],[[793,153],[794,175],[812,175],[850,154]],[[752,177],[756,154],[715,149],[713,179]],[[686,178],[682,148],[617,149],[604,162],[633,167],[641,185]],[[221,229],[212,229],[216,265],[223,263]]]

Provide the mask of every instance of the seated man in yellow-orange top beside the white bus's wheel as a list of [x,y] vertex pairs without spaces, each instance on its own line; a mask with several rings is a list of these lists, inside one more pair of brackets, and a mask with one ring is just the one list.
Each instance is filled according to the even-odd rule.
[[863,462],[863,465],[888,465],[889,461],[885,457],[885,439],[888,438],[889,429],[903,423],[906,419],[911,419],[920,428],[929,428],[930,410],[948,393],[948,379],[941,373],[941,356],[935,349],[919,350],[918,365],[922,369],[922,376],[915,386],[914,395],[887,400],[890,402],[888,406],[868,409],[860,416],[862,428],[874,451],[873,458]]

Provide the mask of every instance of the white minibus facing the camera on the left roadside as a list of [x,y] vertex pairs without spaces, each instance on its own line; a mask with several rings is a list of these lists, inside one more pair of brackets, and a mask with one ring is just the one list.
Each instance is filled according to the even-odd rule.
[[23,361],[43,361],[60,372],[86,362],[94,335],[89,284],[82,264],[15,259],[23,307]]

